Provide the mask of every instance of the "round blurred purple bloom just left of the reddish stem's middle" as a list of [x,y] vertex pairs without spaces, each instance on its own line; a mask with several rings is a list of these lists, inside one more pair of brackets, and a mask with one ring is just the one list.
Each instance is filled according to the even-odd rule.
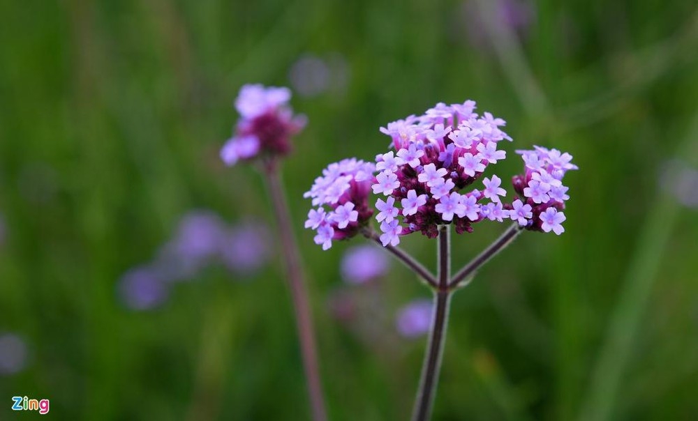
[[221,242],[221,259],[232,272],[249,275],[269,259],[269,238],[269,229],[257,222],[232,227]]

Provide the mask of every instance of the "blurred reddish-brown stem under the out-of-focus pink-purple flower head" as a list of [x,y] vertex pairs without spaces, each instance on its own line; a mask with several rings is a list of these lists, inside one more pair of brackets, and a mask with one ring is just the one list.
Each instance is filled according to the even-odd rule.
[[296,326],[301,346],[303,367],[308,381],[308,393],[310,395],[313,420],[327,420],[325,401],[322,397],[322,383],[320,382],[320,368],[318,367],[317,347],[315,346],[315,333],[308,299],[308,291],[304,284],[304,274],[301,259],[298,254],[293,230],[291,229],[288,205],[281,187],[281,178],[274,162],[270,162],[262,174],[266,175],[269,195],[272,197],[274,216],[279,224],[281,248],[283,259],[288,274],[288,284],[291,290],[291,298],[295,311]]

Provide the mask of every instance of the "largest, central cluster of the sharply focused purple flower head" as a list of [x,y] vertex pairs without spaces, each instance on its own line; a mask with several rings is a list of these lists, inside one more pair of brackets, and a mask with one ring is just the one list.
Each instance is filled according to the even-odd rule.
[[471,100],[440,102],[423,116],[409,116],[380,129],[392,138],[395,149],[376,156],[381,172],[372,186],[374,193],[387,196],[376,201],[383,245],[397,245],[399,236],[415,231],[435,238],[441,224],[454,224],[462,234],[486,217],[502,221],[508,216],[498,176],[484,178],[482,191],[461,193],[489,164],[506,158],[498,142],[512,140],[500,129],[503,119],[489,112],[480,116],[474,110]]

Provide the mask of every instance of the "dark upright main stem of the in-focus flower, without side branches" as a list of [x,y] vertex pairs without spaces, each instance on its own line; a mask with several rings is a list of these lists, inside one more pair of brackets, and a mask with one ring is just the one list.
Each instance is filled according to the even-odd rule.
[[413,421],[428,420],[436,395],[438,375],[441,371],[443,344],[446,339],[448,325],[448,308],[451,302],[451,291],[448,280],[451,270],[451,231],[450,226],[441,227],[438,236],[438,287],[434,290],[434,311],[431,320],[428,351],[422,365],[422,378],[419,380],[419,390],[412,414]]

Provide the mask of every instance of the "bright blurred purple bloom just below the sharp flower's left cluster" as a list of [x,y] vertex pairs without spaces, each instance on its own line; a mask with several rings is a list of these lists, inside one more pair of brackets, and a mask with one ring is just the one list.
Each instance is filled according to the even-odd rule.
[[388,266],[385,251],[374,245],[359,245],[344,254],[341,273],[343,279],[350,284],[364,284],[383,276]]

